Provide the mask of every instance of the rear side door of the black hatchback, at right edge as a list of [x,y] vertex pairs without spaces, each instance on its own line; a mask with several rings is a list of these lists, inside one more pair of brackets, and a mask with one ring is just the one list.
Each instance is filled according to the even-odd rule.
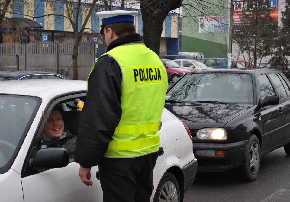
[[[283,111],[285,115],[285,129],[282,141],[290,138],[290,89],[286,84],[286,81],[282,78],[280,73],[268,73],[270,78],[275,85],[279,97],[281,99],[281,104],[283,106]],[[288,82],[288,81],[287,81]]]

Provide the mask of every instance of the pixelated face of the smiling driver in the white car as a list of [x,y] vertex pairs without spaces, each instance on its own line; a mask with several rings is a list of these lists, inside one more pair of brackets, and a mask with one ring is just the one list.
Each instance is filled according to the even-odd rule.
[[58,110],[53,109],[44,125],[44,129],[41,133],[42,138],[46,141],[56,140],[61,136],[63,130],[64,123],[61,114]]

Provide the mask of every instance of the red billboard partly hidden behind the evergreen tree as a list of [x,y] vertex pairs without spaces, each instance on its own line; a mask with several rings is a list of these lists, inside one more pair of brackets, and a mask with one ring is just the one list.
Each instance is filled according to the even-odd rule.
[[[264,1],[266,2],[266,1]],[[270,16],[278,22],[278,0],[269,0]],[[233,25],[241,25],[244,15],[252,15],[247,1],[235,1],[233,13]]]

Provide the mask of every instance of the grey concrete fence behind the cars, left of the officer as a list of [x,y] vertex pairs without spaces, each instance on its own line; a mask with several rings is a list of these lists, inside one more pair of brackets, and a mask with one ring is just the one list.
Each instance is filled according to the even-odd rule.
[[[44,44],[40,42],[41,45]],[[54,44],[56,45],[56,44]],[[84,50],[86,53],[78,54],[78,71],[79,71],[79,80],[86,80],[89,74],[89,71],[95,62],[95,49],[90,49],[90,47],[95,47],[95,43],[88,43],[88,50]],[[32,70],[32,71],[46,71],[46,72],[55,72],[61,73],[68,78],[72,79],[72,54],[68,53],[59,53],[59,49],[55,48],[55,51],[48,50],[50,53],[38,53],[38,54],[28,54],[27,53],[27,44],[15,43],[15,46],[23,46],[21,51],[11,53],[11,51],[3,51],[0,45],[0,67],[3,70],[12,70],[17,69],[17,57],[19,55],[19,69],[20,70]],[[11,46],[11,47],[13,47]],[[30,46],[31,47],[31,46]],[[58,47],[58,45],[56,46]],[[35,46],[35,49],[38,52],[39,46]],[[2,50],[2,51],[1,51]],[[54,53],[52,53],[54,52]],[[68,74],[66,74],[68,73]]]

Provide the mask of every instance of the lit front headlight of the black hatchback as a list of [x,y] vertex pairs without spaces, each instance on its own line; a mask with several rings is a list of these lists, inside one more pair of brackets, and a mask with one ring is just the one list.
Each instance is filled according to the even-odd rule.
[[224,128],[203,128],[196,132],[198,139],[227,140],[227,131]]

